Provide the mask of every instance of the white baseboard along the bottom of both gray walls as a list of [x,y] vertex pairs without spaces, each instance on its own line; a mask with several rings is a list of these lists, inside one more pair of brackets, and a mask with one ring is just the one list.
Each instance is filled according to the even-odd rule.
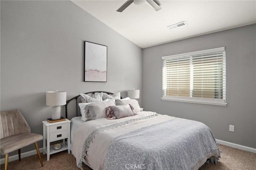
[[[243,146],[243,145],[238,145],[238,144],[235,144],[235,143],[222,141],[222,140],[219,140],[219,139],[216,139],[216,142],[219,143],[219,144],[222,144],[222,145],[229,146],[229,147],[233,147],[233,148],[237,148],[237,149],[246,150],[248,152],[256,153],[255,148],[250,148],[250,147],[246,147],[246,146]],[[40,148],[39,150],[40,150],[41,153],[43,152],[43,148]],[[36,149],[28,151],[28,152],[24,152],[24,153],[20,154],[20,157],[24,158],[24,157],[31,156],[31,155],[34,155],[34,154],[37,154]],[[18,154],[13,155],[13,156],[9,156],[9,162],[11,162],[13,160],[18,160],[18,159],[19,159]],[[4,160],[5,160],[5,158],[2,158],[0,160],[1,164],[4,164]]]

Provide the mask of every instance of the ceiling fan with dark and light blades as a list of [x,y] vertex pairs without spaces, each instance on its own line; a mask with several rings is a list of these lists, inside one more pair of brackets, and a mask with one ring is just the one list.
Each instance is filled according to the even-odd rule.
[[152,6],[156,11],[161,10],[162,8],[159,6],[159,4],[156,2],[156,0],[128,0],[126,1],[118,10],[117,12],[122,12],[125,10],[132,2],[136,5],[142,5],[148,2],[149,6]]

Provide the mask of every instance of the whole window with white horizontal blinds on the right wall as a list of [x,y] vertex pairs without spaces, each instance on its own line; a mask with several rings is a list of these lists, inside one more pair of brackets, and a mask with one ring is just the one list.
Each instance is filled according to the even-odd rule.
[[225,47],[162,57],[162,99],[225,106],[225,58]]

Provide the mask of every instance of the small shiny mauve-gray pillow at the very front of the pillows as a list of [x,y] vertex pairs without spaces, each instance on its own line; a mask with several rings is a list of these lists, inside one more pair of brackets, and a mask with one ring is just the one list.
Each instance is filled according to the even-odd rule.
[[133,116],[130,104],[106,107],[107,119],[120,119]]

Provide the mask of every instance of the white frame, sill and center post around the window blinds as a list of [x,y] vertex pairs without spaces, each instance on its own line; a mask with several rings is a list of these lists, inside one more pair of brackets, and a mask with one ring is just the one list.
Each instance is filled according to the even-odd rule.
[[[194,55],[202,55],[206,53],[214,53],[214,52],[222,52],[223,53],[223,97],[222,99],[213,99],[213,98],[196,98],[196,97],[182,97],[182,96],[166,96],[166,68],[164,65],[165,60],[168,59],[180,59],[182,57],[189,57]],[[178,102],[190,102],[190,103],[200,103],[200,104],[212,104],[212,105],[220,105],[220,106],[226,106],[226,49],[225,47],[215,48],[215,49],[207,49],[202,51],[195,51],[190,53],[182,53],[177,55],[169,55],[162,57],[163,60],[163,97],[162,100],[170,100],[170,101],[178,101]],[[190,66],[190,72],[192,71],[193,67]],[[191,72],[192,73],[192,72]],[[190,74],[191,74],[190,73]],[[190,75],[190,82],[191,82]],[[193,82],[192,82],[193,83]],[[190,87],[193,86],[193,84],[190,83]],[[193,89],[192,87],[190,89]],[[191,94],[191,90],[190,90]]]

